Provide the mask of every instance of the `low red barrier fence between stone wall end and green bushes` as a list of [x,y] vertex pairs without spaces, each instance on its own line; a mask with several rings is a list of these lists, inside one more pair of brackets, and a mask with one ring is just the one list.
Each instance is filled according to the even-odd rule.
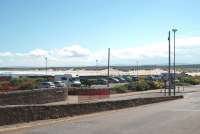
[[97,101],[110,97],[109,89],[86,89],[78,93],[78,103]]

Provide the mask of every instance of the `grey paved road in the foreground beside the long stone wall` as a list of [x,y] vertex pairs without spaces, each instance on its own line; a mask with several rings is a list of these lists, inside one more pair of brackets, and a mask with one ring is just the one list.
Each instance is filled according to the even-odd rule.
[[[3,134],[200,134],[200,92],[162,102],[45,122]],[[49,124],[50,123],[50,124]]]

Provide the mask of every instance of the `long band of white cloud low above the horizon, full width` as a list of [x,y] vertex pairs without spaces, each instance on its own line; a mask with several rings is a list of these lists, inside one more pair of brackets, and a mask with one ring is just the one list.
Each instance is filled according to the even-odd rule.
[[[171,42],[173,49],[173,41]],[[200,56],[200,37],[177,38],[177,62],[198,62]],[[173,52],[173,51],[172,51]],[[80,45],[72,45],[52,50],[34,49],[27,53],[0,52],[1,64],[4,66],[44,66],[44,57],[48,57],[50,66],[99,65],[107,63],[107,48],[91,51]],[[142,64],[167,63],[168,41],[152,43],[137,47],[111,48],[111,64]]]

